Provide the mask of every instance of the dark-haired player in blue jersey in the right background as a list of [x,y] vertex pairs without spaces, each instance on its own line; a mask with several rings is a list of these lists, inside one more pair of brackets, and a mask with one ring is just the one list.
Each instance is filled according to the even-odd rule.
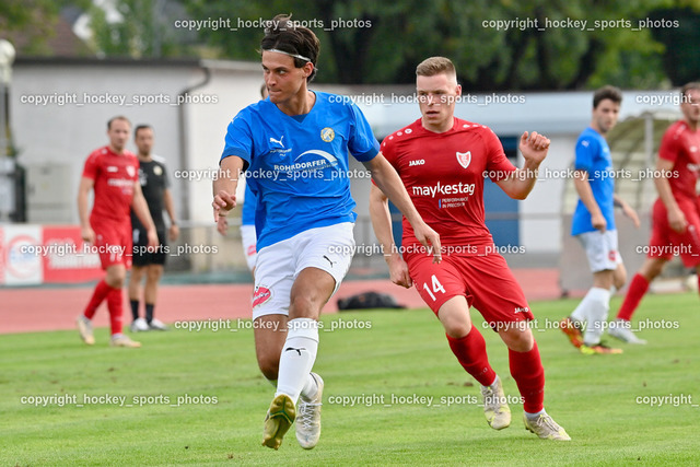
[[[593,287],[571,316],[561,322],[562,331],[582,353],[621,353],[600,343],[610,308],[610,290],[620,289],[627,271],[618,252],[615,206],[639,227],[637,212],[615,194],[615,171],[606,133],[617,122],[622,93],[604,86],[593,96],[591,126],[576,141],[574,186],[579,202],[573,214],[571,234],[586,252],[593,272]],[[615,290],[615,289],[612,289]]]

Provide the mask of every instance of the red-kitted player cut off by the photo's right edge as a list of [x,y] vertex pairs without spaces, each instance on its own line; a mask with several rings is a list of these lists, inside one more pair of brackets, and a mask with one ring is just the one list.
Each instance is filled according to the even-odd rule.
[[[649,254],[630,282],[616,329],[631,328],[632,314],[650,282],[675,255],[680,255],[687,268],[696,268],[700,278],[700,200],[696,192],[700,176],[700,82],[682,86],[680,96],[684,118],[666,130],[658,148],[654,172],[658,199],[652,210]],[[610,335],[627,340],[626,334],[611,330]]]

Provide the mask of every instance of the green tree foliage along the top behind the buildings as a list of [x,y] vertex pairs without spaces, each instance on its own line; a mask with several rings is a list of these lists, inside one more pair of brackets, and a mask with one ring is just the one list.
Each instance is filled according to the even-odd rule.
[[[59,11],[72,5],[89,12],[93,45],[102,56],[192,56],[199,42],[198,56],[258,60],[262,21],[292,13],[322,42],[317,80],[346,84],[412,83],[416,65],[434,55],[455,61],[466,92],[573,90],[604,83],[650,89],[700,77],[700,0],[110,4],[118,21],[91,0],[3,0],[0,25],[35,28],[40,42]],[[194,20],[196,27],[176,27],[177,20]],[[668,22],[676,26],[664,26]]]

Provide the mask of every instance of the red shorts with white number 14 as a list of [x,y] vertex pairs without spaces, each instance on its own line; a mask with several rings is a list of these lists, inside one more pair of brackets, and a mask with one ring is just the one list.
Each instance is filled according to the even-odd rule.
[[432,256],[422,254],[406,257],[418,293],[435,315],[447,300],[464,295],[493,330],[535,318],[501,255],[448,255],[439,265],[432,261]]

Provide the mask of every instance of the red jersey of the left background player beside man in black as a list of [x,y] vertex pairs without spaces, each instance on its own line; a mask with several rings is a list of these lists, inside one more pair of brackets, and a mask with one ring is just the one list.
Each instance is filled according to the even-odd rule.
[[133,184],[139,178],[139,160],[136,154],[129,151],[117,154],[109,147],[100,148],[85,161],[83,177],[95,182],[91,222],[104,219],[131,222]]

